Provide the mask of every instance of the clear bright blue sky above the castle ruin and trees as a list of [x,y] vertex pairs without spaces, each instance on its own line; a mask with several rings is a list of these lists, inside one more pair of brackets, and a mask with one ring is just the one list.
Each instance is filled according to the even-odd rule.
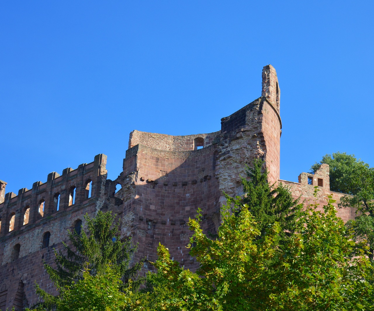
[[326,153],[374,166],[373,1],[1,1],[0,179],[6,192],[108,156],[138,129],[218,131],[281,89],[281,179]]

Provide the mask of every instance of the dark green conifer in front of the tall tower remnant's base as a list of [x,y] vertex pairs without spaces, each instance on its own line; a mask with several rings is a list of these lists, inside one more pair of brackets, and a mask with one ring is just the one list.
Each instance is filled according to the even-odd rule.
[[264,161],[255,159],[252,167],[246,167],[248,179],[242,177],[243,198],[232,199],[227,197],[228,204],[235,200],[236,205],[245,204],[256,220],[256,227],[264,235],[269,225],[278,222],[281,227],[280,234],[290,234],[294,230],[296,220],[300,216],[302,204],[294,200],[289,189],[282,183],[269,185],[268,171]]

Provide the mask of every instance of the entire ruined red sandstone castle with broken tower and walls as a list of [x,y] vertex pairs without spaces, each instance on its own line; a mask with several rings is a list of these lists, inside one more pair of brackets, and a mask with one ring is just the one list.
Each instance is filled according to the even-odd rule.
[[[299,182],[279,180],[280,89],[275,69],[263,68],[261,97],[221,119],[221,129],[209,134],[171,136],[141,131],[130,133],[123,171],[107,179],[106,156],[97,155],[76,170],[50,173],[47,182],[18,195],[6,193],[0,180],[0,309],[15,310],[37,302],[34,282],[53,293],[42,260],[52,264],[53,248],[62,249],[71,230],[83,216],[98,210],[113,211],[121,221],[121,237],[139,243],[134,260],[146,258],[144,269],[153,269],[161,242],[174,260],[190,269],[198,263],[188,254],[189,217],[203,210],[205,232],[217,233],[224,193],[242,195],[240,176],[253,158],[269,170],[269,183],[285,183],[295,198],[313,198],[314,186],[324,205],[329,171],[322,165],[315,175],[301,173]],[[116,192],[116,186],[121,188]],[[340,193],[333,193],[337,200]],[[335,204],[336,205],[336,204]],[[355,216],[350,208],[338,209],[345,221]],[[46,233],[50,233],[46,246]]]

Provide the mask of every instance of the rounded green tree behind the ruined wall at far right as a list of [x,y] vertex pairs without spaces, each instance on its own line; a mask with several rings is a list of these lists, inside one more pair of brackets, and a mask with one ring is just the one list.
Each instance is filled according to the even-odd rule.
[[340,200],[342,207],[355,207],[355,220],[347,222],[353,229],[356,241],[366,240],[368,256],[374,257],[374,168],[354,155],[336,152],[322,157],[320,163],[312,165],[315,173],[322,163],[330,167],[330,189],[346,193]]

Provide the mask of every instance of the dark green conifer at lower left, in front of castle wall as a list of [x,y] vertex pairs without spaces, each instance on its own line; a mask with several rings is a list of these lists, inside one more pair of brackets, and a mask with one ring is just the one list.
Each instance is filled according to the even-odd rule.
[[[53,296],[36,285],[37,294],[42,298],[36,308],[40,310],[55,310],[61,301],[67,298],[67,290],[79,289],[85,282],[93,282],[101,277],[118,277],[120,291],[128,291],[129,283],[133,288],[139,287],[142,278],[135,279],[142,263],[136,263],[129,267],[137,246],[131,243],[131,239],[120,239],[120,224],[114,222],[115,215],[111,212],[98,212],[91,219],[85,216],[87,233],[69,232],[70,245],[64,244],[63,251],[55,251],[55,267],[45,263],[45,269],[50,280],[58,290],[58,296]],[[108,274],[110,266],[110,274]],[[115,278],[114,278],[115,280]],[[70,296],[71,297],[71,296]]]

